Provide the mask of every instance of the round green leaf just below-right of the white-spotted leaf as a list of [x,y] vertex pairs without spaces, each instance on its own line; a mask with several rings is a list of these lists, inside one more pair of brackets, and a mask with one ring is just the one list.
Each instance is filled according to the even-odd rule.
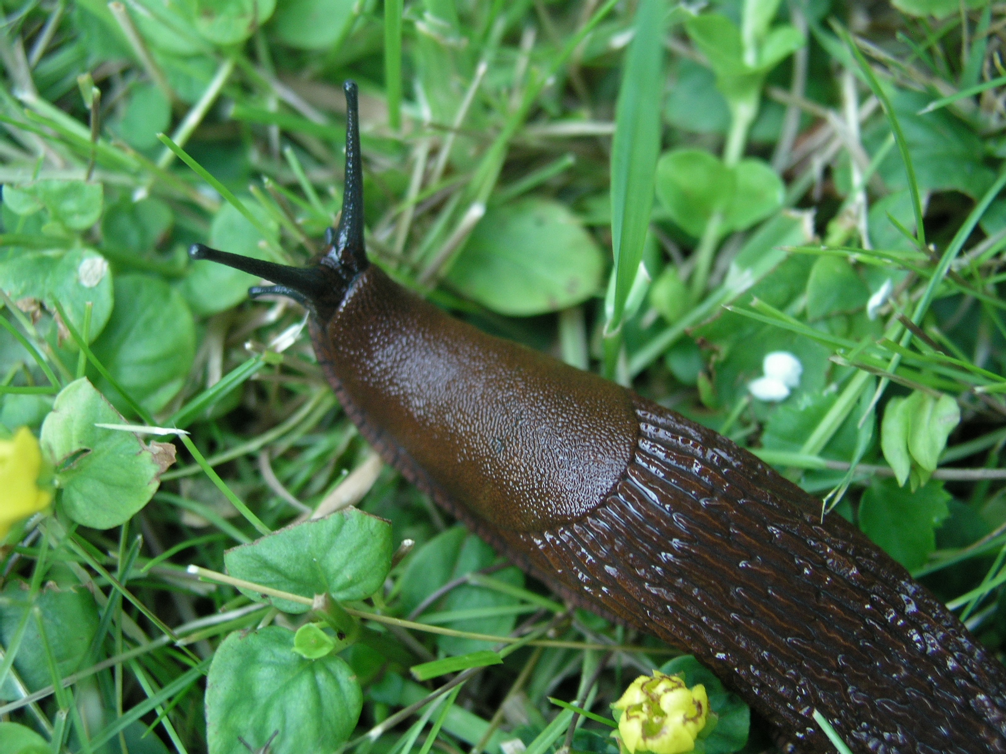
[[[181,389],[192,368],[192,314],[180,294],[148,275],[120,275],[115,297],[112,318],[95,341],[95,355],[135,400],[148,411],[159,411]],[[96,384],[124,410],[112,385],[104,378],[96,378]]]

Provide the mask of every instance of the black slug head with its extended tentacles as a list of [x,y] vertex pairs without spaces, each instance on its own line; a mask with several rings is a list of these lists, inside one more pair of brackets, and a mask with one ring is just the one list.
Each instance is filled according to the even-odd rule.
[[342,303],[356,276],[367,268],[363,245],[363,168],[360,163],[360,127],[356,83],[346,81],[346,170],[342,214],[336,228],[325,231],[326,251],[313,265],[292,267],[231,254],[202,243],[189,247],[192,259],[209,259],[272,280],[273,286],[248,289],[252,298],[287,296],[304,305],[316,318],[327,321]]

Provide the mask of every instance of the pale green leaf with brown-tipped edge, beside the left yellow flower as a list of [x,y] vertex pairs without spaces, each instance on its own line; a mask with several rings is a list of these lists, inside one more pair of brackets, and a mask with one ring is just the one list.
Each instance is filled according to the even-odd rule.
[[88,381],[56,396],[42,423],[42,451],[55,467],[59,500],[78,524],[109,529],[129,521],[158,486],[158,465],[132,432],[103,429],[125,420]]

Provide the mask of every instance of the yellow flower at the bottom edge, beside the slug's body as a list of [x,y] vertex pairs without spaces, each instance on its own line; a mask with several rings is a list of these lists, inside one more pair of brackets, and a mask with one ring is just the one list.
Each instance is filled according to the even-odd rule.
[[709,716],[704,686],[689,689],[678,676],[660,671],[633,681],[612,707],[623,711],[619,737],[630,754],[691,751]]

